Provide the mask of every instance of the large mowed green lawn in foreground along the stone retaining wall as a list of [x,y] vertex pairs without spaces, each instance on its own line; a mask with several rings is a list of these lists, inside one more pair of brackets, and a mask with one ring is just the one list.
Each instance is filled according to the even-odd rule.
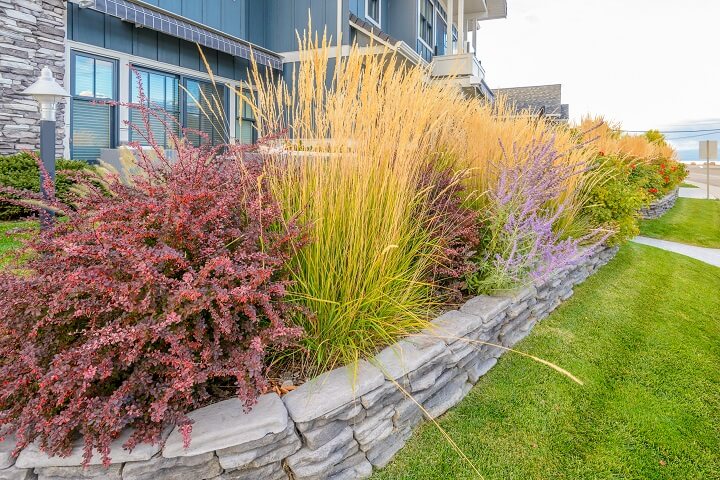
[[[440,424],[486,479],[720,479],[720,269],[628,244]],[[374,477],[477,478],[423,426]]]

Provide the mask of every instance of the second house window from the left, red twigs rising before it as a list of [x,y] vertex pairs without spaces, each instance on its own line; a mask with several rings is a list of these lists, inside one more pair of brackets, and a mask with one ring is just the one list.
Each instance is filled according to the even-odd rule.
[[[140,102],[138,75],[140,85],[145,93],[145,106],[155,110],[159,118],[150,117],[150,129],[158,145],[165,148],[172,148],[172,134],[180,133],[180,86],[177,75],[144,70],[137,68],[130,72],[130,101]],[[164,112],[164,113],[162,113]],[[144,128],[142,115],[137,109],[130,110],[130,123]],[[167,128],[164,125],[167,123]],[[130,140],[146,145],[145,138],[130,129]]]

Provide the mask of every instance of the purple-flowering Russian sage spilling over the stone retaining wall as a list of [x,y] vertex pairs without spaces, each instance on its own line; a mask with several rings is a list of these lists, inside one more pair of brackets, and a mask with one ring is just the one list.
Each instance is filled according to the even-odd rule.
[[552,137],[513,145],[509,153],[503,147],[503,155],[482,209],[478,271],[468,277],[474,293],[542,281],[604,241],[600,231],[572,238],[556,228],[572,202],[565,186],[587,170],[585,165],[566,161]]

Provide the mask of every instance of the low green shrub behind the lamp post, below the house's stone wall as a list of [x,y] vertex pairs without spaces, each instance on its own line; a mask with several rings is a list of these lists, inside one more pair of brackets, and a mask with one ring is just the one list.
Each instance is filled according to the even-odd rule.
[[[59,172],[65,170],[79,171],[88,168],[88,164],[77,160],[58,160],[56,168]],[[29,153],[0,156],[0,185],[20,190],[40,191],[40,169]],[[73,181],[67,175],[59,173],[55,183],[57,195],[60,200],[67,200]],[[4,194],[0,194],[0,198]],[[32,211],[12,203],[0,200],[0,221],[17,220],[31,215]]]

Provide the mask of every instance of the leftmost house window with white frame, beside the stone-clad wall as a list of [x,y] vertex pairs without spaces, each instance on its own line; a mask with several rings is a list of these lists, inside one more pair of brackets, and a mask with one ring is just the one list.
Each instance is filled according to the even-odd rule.
[[102,102],[117,100],[117,63],[75,52],[70,63],[70,156],[93,162],[115,146],[115,107]]

